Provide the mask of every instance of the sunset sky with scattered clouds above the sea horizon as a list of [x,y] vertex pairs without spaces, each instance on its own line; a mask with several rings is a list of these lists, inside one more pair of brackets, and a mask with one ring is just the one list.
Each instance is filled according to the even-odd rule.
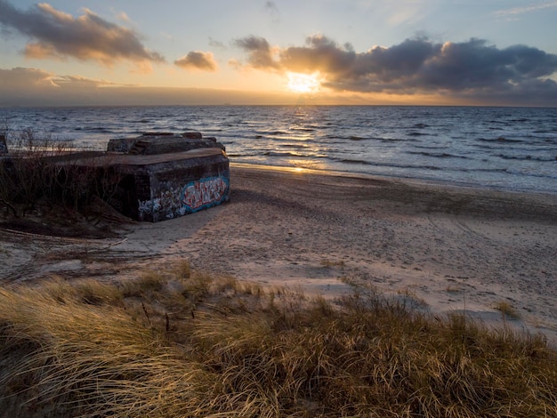
[[557,106],[556,0],[0,0],[0,106]]

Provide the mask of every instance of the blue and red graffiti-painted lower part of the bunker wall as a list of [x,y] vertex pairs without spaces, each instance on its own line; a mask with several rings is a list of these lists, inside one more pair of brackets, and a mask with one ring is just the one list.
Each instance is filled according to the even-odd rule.
[[230,181],[226,175],[206,177],[161,189],[156,195],[138,201],[140,221],[164,221],[220,205],[229,200]]

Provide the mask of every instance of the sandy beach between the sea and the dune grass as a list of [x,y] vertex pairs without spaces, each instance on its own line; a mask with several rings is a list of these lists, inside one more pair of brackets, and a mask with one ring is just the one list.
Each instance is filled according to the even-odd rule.
[[[557,346],[557,195],[232,165],[230,202],[104,238],[9,228],[4,284],[44,277],[133,279],[195,269],[334,298],[372,285],[436,315],[544,333]],[[496,309],[513,307],[519,318]]]

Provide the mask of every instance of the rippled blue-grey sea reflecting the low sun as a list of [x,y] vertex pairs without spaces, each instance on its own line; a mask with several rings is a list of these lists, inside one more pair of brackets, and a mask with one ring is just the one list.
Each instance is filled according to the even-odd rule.
[[76,148],[113,138],[199,132],[231,163],[557,193],[557,109],[416,106],[0,108],[22,132]]

